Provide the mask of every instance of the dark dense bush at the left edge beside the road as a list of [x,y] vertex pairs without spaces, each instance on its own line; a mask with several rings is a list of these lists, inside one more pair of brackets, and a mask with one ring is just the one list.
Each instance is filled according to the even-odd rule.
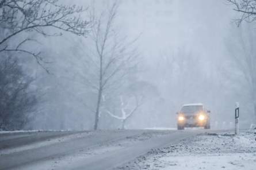
[[30,113],[37,104],[30,90],[32,78],[27,76],[18,59],[0,57],[0,130],[22,129],[30,121]]

